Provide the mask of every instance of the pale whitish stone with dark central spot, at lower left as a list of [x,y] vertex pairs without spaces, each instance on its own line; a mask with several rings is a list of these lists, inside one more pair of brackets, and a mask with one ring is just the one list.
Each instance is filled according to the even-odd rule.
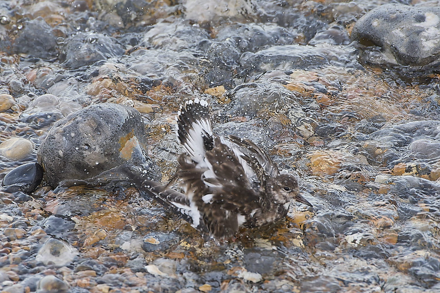
[[45,265],[52,263],[55,267],[61,268],[70,264],[77,254],[77,249],[70,244],[51,238],[38,250],[35,260],[42,261]]

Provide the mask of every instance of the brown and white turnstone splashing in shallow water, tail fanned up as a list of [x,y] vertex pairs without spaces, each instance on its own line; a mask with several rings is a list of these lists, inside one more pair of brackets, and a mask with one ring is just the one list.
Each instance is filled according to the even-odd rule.
[[259,227],[286,217],[292,199],[312,206],[299,194],[297,177],[280,174],[252,141],[213,134],[206,101],[187,101],[177,124],[177,140],[185,152],[174,178],[182,179],[184,194],[128,175],[194,228],[227,238],[241,226]]

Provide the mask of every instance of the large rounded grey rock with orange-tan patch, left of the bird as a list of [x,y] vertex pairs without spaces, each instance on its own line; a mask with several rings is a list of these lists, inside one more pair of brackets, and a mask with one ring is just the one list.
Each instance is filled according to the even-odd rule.
[[117,104],[91,105],[59,120],[38,149],[48,184],[86,179],[121,164],[143,166],[160,175],[147,156],[145,128],[139,112]]

